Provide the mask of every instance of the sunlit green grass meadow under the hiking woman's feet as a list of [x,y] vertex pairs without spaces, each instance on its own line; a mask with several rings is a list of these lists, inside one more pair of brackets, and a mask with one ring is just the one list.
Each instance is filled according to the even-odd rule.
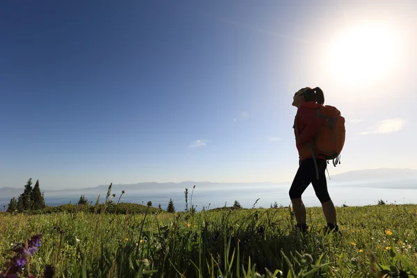
[[46,265],[55,277],[417,275],[417,205],[338,207],[341,234],[328,235],[321,208],[307,208],[308,234],[293,229],[288,208],[142,211],[2,213],[0,264],[14,243],[39,233],[36,277]]

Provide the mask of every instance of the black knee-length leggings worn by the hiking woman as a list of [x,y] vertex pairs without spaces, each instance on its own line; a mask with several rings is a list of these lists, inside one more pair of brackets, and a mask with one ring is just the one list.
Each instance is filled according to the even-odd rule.
[[327,168],[327,161],[324,159],[316,159],[316,163],[318,168],[318,179],[313,158],[307,158],[302,161],[300,167],[297,170],[297,174],[295,174],[293,184],[291,184],[291,199],[301,198],[304,190],[306,190],[310,183],[312,183],[314,191],[316,192],[316,196],[321,203],[330,200],[329,193],[327,192],[327,180],[325,173]]

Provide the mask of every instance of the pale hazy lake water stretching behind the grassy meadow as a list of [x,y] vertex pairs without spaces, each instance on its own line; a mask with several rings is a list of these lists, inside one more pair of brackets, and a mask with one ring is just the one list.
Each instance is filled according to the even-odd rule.
[[[127,188],[126,188],[127,187]],[[132,187],[132,186],[130,186]],[[191,191],[193,186],[187,186],[188,206],[191,202]],[[417,187],[414,188],[375,188],[373,186],[331,186],[329,185],[329,194],[336,206],[364,206],[368,204],[377,204],[379,199],[383,199],[387,204],[417,204]],[[185,187],[179,186],[163,187],[153,186],[152,188],[129,188],[129,186],[113,186],[112,193],[116,194],[114,201],[120,197],[122,190],[125,194],[122,195],[120,202],[132,202],[138,204],[147,204],[152,201],[153,206],[161,204],[162,208],[167,207],[170,198],[174,201],[174,206],[177,211],[182,211],[185,208]],[[217,208],[224,206],[232,206],[235,200],[238,200],[244,208],[252,208],[256,199],[259,199],[255,207],[269,208],[270,204],[277,202],[278,205],[288,206],[290,199],[288,196],[289,185],[283,183],[256,183],[256,184],[220,184],[212,183],[211,185],[196,186],[192,202],[197,206],[197,211],[201,211],[203,206],[209,208]],[[76,204],[81,195],[85,195],[89,201],[95,204],[98,194],[101,195],[100,202],[104,202],[106,197],[106,188],[89,188],[84,190],[60,190],[60,191],[45,191],[45,202],[49,206],[56,206],[59,204]],[[0,197],[0,205],[6,205],[12,196],[2,194]],[[16,196],[17,197],[17,196]],[[306,189],[303,196],[303,201],[306,206],[320,206],[313,187],[310,185]]]

